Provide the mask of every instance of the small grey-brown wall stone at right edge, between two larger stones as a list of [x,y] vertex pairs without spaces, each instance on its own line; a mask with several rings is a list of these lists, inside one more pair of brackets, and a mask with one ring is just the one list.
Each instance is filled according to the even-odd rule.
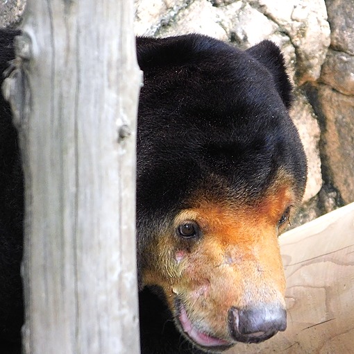
[[330,49],[322,67],[320,81],[342,94],[354,95],[354,56]]

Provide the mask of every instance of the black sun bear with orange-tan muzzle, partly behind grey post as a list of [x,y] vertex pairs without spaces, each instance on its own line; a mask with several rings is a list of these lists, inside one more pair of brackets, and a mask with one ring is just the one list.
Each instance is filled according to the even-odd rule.
[[[1,31],[1,71],[14,35]],[[307,173],[283,56],[269,41],[240,51],[193,34],[138,37],[137,60],[142,353],[262,342],[287,326],[277,238]],[[23,180],[10,110],[0,103],[0,346],[20,353]]]

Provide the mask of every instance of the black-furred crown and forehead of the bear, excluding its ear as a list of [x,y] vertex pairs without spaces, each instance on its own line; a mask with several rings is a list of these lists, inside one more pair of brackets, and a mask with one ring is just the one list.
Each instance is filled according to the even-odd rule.
[[[270,71],[220,42],[182,42],[140,56],[137,177],[153,193],[140,191],[138,202],[184,208],[201,190],[251,203],[279,171],[302,176],[298,135]],[[302,180],[293,180],[300,195]]]

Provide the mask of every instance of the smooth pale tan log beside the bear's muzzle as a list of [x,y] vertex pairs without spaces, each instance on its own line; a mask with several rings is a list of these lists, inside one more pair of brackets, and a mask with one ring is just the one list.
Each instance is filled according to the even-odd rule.
[[354,203],[280,237],[288,325],[235,353],[354,353]]

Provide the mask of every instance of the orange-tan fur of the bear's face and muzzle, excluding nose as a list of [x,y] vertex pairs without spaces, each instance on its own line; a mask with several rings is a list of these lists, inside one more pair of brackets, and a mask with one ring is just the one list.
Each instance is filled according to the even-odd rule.
[[[294,195],[283,182],[254,205],[199,199],[180,212],[151,245],[156,256],[144,271],[145,285],[160,285],[173,312],[178,298],[199,330],[227,340],[231,307],[285,307],[278,221]],[[176,230],[184,221],[196,222],[201,237],[180,237]]]

